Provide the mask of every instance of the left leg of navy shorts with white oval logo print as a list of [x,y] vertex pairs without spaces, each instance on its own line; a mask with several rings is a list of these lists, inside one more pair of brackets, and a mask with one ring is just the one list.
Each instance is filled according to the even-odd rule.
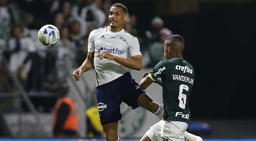
[[109,85],[97,87],[96,97],[102,125],[118,122],[122,118],[122,114],[120,113],[121,101],[115,90],[112,90]]

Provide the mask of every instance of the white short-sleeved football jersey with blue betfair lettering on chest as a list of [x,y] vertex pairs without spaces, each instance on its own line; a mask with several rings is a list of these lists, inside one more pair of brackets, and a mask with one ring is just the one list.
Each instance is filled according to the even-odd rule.
[[97,86],[113,81],[130,69],[106,58],[100,59],[100,51],[108,51],[110,54],[128,59],[135,55],[141,55],[139,42],[135,36],[122,29],[113,33],[109,26],[91,31],[88,39],[88,51],[94,52],[94,67],[96,71]]

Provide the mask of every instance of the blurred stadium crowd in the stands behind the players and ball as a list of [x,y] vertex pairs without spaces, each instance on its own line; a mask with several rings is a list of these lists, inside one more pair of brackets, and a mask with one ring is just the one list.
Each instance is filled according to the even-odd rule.
[[[85,59],[89,33],[109,25],[112,4],[111,0],[0,0],[1,91],[12,87],[6,85],[11,84],[12,73],[27,92],[57,92],[67,81],[67,69],[77,68]],[[129,14],[124,29],[139,39],[143,67],[154,67],[163,59],[163,42],[172,31],[156,16],[148,23],[151,28],[139,33],[136,18]],[[54,47],[38,40],[38,30],[46,24],[60,31]]]

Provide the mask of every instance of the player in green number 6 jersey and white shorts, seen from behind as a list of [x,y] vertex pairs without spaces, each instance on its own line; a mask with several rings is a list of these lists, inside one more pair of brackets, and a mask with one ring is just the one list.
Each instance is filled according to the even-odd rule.
[[[184,141],[189,138],[202,141],[201,137],[186,132],[190,111],[188,99],[195,80],[193,66],[183,59],[184,39],[171,35],[164,43],[166,60],[160,61],[151,72],[145,73],[139,86],[146,89],[153,82],[163,87],[163,120],[145,133],[141,141]],[[161,80],[158,80],[161,78]],[[193,135],[193,136],[191,136]]]

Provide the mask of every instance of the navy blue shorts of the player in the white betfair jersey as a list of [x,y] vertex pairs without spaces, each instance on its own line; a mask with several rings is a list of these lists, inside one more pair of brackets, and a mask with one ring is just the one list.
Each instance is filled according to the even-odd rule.
[[132,109],[139,107],[137,99],[145,90],[132,79],[130,72],[97,87],[98,111],[102,125],[118,122],[122,118],[120,104],[122,102]]

